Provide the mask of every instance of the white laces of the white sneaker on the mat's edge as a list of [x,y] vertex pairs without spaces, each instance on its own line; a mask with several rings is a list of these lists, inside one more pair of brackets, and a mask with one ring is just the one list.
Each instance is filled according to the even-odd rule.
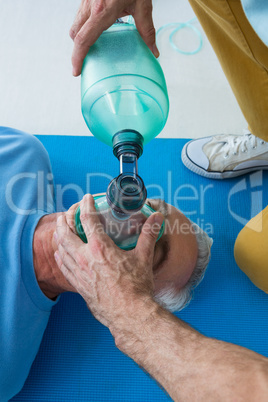
[[251,133],[244,135],[230,136],[224,145],[225,155],[228,158],[230,153],[238,155],[239,151],[245,153],[250,149],[256,149],[259,145],[267,145],[267,142],[261,140]]

